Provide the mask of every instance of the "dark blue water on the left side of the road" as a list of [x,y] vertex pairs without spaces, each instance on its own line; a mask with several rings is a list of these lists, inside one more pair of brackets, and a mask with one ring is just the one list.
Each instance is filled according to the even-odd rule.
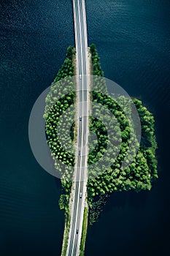
[[28,118],[74,44],[72,2],[1,1],[1,255],[61,255],[61,186],[37,164]]

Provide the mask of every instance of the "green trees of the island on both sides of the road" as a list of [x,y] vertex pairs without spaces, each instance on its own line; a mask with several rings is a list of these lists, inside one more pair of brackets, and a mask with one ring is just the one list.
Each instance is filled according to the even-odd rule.
[[[125,154],[128,151],[129,143],[134,145],[132,151],[135,153],[135,146],[138,141],[135,135],[131,135],[131,129],[129,127],[129,118],[125,115],[120,104],[109,96],[107,92],[107,86],[104,80],[104,72],[101,69],[101,64],[99,61],[96,46],[94,44],[90,45],[91,54],[91,67],[92,74],[96,76],[96,80],[93,80],[93,91],[91,92],[91,99],[94,103],[94,108],[96,112],[100,111],[101,108],[107,107],[107,109],[112,113],[113,117],[109,120],[110,127],[112,128],[112,136],[115,145],[120,143],[120,151],[116,156],[117,146],[114,150],[107,150],[108,134],[107,127],[104,126],[100,118],[90,117],[90,154],[88,155],[88,166],[93,166],[94,163],[101,159],[103,154],[106,159],[111,162],[110,166],[106,170],[101,170],[99,165],[95,165],[94,168],[89,170],[88,179],[88,211],[85,210],[86,218],[88,218],[88,224],[93,225],[94,222],[100,217],[101,211],[104,204],[107,202],[107,197],[111,195],[112,192],[121,192],[123,190],[128,191],[133,189],[136,192],[141,190],[150,190],[152,187],[152,181],[158,178],[157,170],[157,160],[155,157],[155,151],[157,148],[155,130],[154,130],[154,117],[146,107],[142,105],[142,101],[139,99],[132,99],[136,110],[139,113],[139,118],[142,127],[142,139],[139,145],[139,150],[136,153],[136,157],[131,161],[131,154],[128,155],[126,162],[131,162],[128,167],[121,168]],[[50,151],[54,161],[56,159],[61,160],[66,166],[64,173],[62,173],[62,168],[58,165],[58,161],[55,161],[55,168],[61,171],[61,184],[63,188],[62,195],[59,200],[59,206],[61,209],[65,210],[66,215],[66,229],[65,235],[69,236],[69,197],[72,191],[72,170],[74,167],[74,139],[76,138],[76,125],[73,124],[75,110],[74,102],[76,94],[73,92],[74,80],[72,77],[76,75],[75,72],[75,49],[73,46],[69,46],[66,53],[66,60],[63,62],[61,69],[59,69],[58,74],[52,83],[50,92],[46,97],[46,107],[45,107],[45,124],[46,124],[46,136],[47,143],[50,147]],[[60,83],[66,78],[67,91],[63,88],[63,83]],[[58,83],[57,83],[58,82]],[[98,84],[100,90],[98,90]],[[56,97],[60,96],[60,99]],[[124,97],[118,97],[118,102],[123,102],[124,105],[129,107],[131,101]],[[97,103],[95,105],[95,103]],[[69,108],[70,111],[67,111]],[[69,131],[69,138],[63,136],[63,140],[66,143],[70,143],[69,151],[63,149],[58,140],[58,131],[61,129],[64,135],[66,129],[62,121],[58,123],[62,114],[66,114],[66,120]],[[109,115],[105,118],[110,118]],[[133,128],[132,128],[133,129]],[[93,135],[96,134],[97,140],[93,140]],[[66,134],[67,135],[67,134]],[[114,139],[115,138],[115,139]],[[96,173],[98,175],[96,175]],[[84,222],[83,222],[84,223]],[[83,224],[84,227],[85,223]],[[82,233],[84,230],[82,230]],[[85,239],[85,236],[84,238]],[[82,247],[85,242],[81,241]],[[65,245],[66,246],[66,245]],[[66,249],[66,248],[65,248]],[[83,255],[83,252],[81,252]],[[64,254],[63,254],[64,255]]]

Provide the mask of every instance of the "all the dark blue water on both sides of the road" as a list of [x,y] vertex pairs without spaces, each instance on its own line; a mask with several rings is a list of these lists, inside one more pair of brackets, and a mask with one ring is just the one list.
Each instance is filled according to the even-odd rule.
[[[155,115],[159,180],[151,192],[109,198],[88,228],[85,255],[169,255],[168,0],[86,0],[88,39],[105,76]],[[0,252],[60,255],[60,182],[36,163],[28,143],[32,105],[74,44],[72,1],[1,0]]]

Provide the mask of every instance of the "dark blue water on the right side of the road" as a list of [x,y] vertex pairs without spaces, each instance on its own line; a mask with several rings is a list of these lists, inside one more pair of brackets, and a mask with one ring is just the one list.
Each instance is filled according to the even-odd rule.
[[109,198],[101,219],[88,229],[85,255],[167,255],[170,2],[86,3],[89,42],[98,48],[105,77],[142,99],[155,115],[160,178],[151,192]]

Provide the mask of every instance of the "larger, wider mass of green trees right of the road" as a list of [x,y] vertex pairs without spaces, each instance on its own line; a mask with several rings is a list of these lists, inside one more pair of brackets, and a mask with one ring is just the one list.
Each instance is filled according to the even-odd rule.
[[[101,66],[99,64],[98,53],[96,51],[95,45],[90,46],[92,61],[93,61],[93,75],[103,75]],[[131,127],[131,116],[125,115],[123,109],[117,104],[123,103],[125,108],[131,104],[131,100],[123,96],[118,97],[117,101],[109,97],[107,93],[102,93],[101,91],[107,91],[106,85],[102,83],[101,91],[98,89],[98,81],[93,80],[94,91],[92,94],[93,102],[97,102],[96,111],[100,110],[102,106],[109,109],[115,118],[117,119],[117,124],[114,119],[109,121],[113,133],[111,136],[115,138],[115,148],[120,145],[120,151],[115,158],[116,150],[109,151],[106,149],[107,133],[105,127],[101,126],[99,121],[90,121],[90,130],[95,132],[98,137],[98,144],[92,153],[88,156],[88,164],[92,164],[98,161],[98,154],[101,157],[103,151],[105,151],[105,158],[111,162],[110,167],[105,167],[105,170],[101,170],[104,166],[97,166],[93,168],[94,176],[97,174],[96,178],[88,179],[88,204],[90,206],[90,225],[96,222],[101,211],[102,206],[106,203],[107,197],[110,193],[115,191],[123,191],[134,189],[136,192],[142,189],[151,189],[152,180],[158,178],[157,171],[157,161],[155,158],[155,150],[157,148],[157,143],[154,135],[154,118],[152,113],[142,106],[142,102],[139,99],[133,99],[136,109],[139,113],[139,118],[142,125],[142,141],[139,146],[139,150],[136,157],[131,162],[133,154],[128,154],[126,159],[129,166],[123,168],[122,163],[125,159],[125,154],[128,151],[129,144],[134,145],[131,151],[135,154],[135,147],[138,146],[138,141],[136,140],[135,132],[133,132],[133,127]],[[98,109],[97,109],[98,108]],[[110,118],[110,115],[105,115],[105,118]],[[118,126],[120,128],[118,128]],[[131,132],[132,131],[132,132]],[[114,134],[115,132],[115,134]],[[91,142],[92,140],[90,140]],[[90,148],[93,148],[93,143]],[[101,173],[100,173],[100,170]],[[90,173],[89,173],[90,174]],[[98,175],[99,174],[99,175]]]

